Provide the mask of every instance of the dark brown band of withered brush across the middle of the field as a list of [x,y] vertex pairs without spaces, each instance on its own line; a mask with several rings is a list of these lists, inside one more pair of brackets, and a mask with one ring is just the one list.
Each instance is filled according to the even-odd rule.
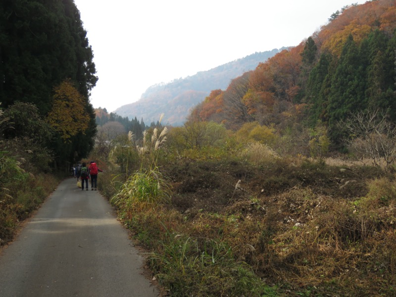
[[[219,212],[238,201],[269,200],[293,188],[309,188],[317,195],[357,198],[367,193],[366,181],[383,175],[380,168],[274,162],[251,166],[234,161],[178,160],[166,175],[173,186],[172,206],[195,215],[198,211]],[[235,189],[238,181],[240,187]]]

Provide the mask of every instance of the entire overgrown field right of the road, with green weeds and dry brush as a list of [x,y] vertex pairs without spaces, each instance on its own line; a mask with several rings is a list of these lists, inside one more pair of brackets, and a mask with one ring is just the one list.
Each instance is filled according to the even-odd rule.
[[312,159],[227,133],[189,148],[179,130],[151,170],[119,175],[107,193],[149,249],[163,296],[395,294],[393,165]]

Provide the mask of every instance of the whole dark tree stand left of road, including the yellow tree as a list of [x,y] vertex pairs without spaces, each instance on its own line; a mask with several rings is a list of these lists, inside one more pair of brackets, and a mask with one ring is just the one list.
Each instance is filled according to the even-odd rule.
[[19,143],[58,166],[85,157],[97,131],[93,57],[73,0],[0,1],[0,150]]

